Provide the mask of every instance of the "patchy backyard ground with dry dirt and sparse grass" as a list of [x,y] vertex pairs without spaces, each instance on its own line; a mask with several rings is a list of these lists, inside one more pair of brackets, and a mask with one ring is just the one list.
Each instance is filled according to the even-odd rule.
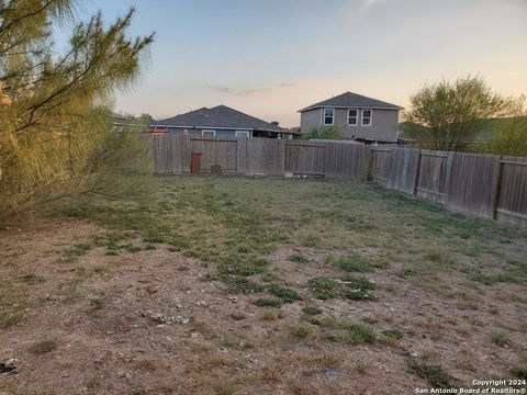
[[377,395],[526,379],[527,229],[369,183],[153,182],[147,202],[0,230],[0,394]]

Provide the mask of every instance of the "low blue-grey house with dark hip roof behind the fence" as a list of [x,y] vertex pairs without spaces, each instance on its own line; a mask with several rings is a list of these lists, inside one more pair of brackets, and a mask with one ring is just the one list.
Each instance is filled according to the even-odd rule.
[[155,133],[165,131],[191,136],[289,138],[291,135],[288,129],[278,126],[278,122],[266,122],[226,105],[203,108],[155,121],[149,124],[149,128]]

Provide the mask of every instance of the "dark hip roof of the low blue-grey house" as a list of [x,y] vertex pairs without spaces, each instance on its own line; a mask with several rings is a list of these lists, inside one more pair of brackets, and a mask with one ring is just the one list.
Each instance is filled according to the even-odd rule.
[[162,126],[203,126],[203,127],[227,127],[259,131],[285,132],[284,128],[257,117],[244,114],[226,105],[215,108],[203,108],[186,114],[176,115],[166,120],[155,121],[150,125]]

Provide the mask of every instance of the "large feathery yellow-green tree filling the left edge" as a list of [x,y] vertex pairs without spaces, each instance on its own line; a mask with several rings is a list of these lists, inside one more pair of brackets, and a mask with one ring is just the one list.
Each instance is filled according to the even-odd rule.
[[74,0],[0,0],[0,213],[68,181],[86,184],[116,138],[113,94],[137,79],[154,40],[125,35],[133,9],[108,29],[98,12],[56,56],[52,23],[74,11]]

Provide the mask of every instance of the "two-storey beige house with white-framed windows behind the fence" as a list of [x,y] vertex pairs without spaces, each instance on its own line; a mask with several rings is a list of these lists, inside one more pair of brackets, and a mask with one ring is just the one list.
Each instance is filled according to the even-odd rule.
[[337,126],[345,139],[395,143],[402,106],[346,92],[300,110],[301,133]]

